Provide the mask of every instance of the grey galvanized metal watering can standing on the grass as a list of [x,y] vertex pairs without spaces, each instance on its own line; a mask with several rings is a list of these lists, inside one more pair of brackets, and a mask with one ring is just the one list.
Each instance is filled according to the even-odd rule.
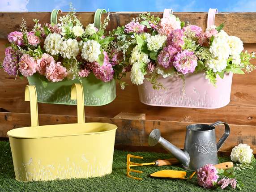
[[[220,141],[216,144],[215,126],[219,124],[225,125],[225,132]],[[210,125],[191,124],[186,128],[184,151],[162,138],[159,129],[154,129],[150,132],[149,146],[160,143],[162,147],[177,158],[187,170],[196,171],[205,164],[218,164],[217,152],[230,134],[229,125],[217,121]]]

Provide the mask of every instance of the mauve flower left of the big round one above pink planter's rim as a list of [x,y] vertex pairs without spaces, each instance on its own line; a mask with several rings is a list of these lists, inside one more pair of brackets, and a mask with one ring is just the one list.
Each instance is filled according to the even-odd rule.
[[169,45],[168,47],[164,47],[162,51],[160,51],[158,55],[158,64],[163,68],[170,68],[173,66],[174,57],[177,54],[177,49]]

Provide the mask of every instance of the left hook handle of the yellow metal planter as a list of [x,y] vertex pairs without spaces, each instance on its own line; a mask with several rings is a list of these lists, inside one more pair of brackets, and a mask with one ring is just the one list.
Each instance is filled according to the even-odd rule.
[[30,101],[31,127],[38,126],[37,96],[34,85],[26,85],[25,101]]

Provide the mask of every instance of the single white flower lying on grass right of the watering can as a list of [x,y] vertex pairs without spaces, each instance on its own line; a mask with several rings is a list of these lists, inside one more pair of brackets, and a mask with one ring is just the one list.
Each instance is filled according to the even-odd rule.
[[250,163],[252,160],[252,149],[249,145],[240,143],[232,149],[230,158],[234,162]]

